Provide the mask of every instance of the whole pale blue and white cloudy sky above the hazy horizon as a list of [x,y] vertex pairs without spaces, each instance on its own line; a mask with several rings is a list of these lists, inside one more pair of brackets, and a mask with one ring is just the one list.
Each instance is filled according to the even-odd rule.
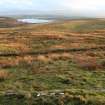
[[0,15],[44,13],[105,17],[105,0],[0,0]]

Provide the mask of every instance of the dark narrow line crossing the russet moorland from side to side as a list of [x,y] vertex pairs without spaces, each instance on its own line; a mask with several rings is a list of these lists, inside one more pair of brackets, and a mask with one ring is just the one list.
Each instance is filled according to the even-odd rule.
[[86,52],[86,51],[100,51],[105,50],[105,46],[92,47],[92,48],[72,48],[72,49],[52,49],[45,51],[34,51],[34,52],[20,52],[20,53],[0,53],[2,57],[10,57],[10,56],[26,56],[26,55],[47,55],[50,53],[69,53],[69,52]]

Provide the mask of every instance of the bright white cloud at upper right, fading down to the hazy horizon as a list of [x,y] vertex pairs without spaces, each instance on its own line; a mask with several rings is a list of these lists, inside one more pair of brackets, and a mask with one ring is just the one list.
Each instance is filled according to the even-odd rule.
[[105,0],[62,0],[61,4],[68,13],[105,17]]

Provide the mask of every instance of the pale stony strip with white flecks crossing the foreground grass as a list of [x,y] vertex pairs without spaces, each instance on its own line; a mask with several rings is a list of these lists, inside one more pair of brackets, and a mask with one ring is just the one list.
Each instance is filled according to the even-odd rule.
[[[46,91],[37,91],[35,92],[34,94],[36,95],[36,97],[41,97],[41,96],[60,96],[60,95],[65,95],[66,93],[69,93],[71,92],[70,94],[73,94],[72,91],[74,91],[75,93],[76,92],[80,92],[80,91],[84,91],[86,92],[87,94],[94,94],[94,93],[99,93],[99,94],[102,94],[104,93],[105,94],[105,89],[89,89],[89,90],[85,90],[85,89],[67,89],[67,91],[65,90],[46,90]],[[15,91],[6,91],[6,92],[2,92],[0,94],[4,94],[5,96],[13,96],[13,95],[24,95],[24,94],[30,94],[29,92],[15,92]],[[77,94],[77,95],[81,95],[80,94]]]

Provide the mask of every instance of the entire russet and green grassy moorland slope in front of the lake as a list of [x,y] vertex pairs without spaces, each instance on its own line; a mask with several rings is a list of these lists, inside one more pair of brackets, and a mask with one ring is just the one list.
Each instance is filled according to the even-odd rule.
[[[7,102],[10,105],[13,102],[19,104],[16,100],[27,105],[29,97],[30,105],[42,105],[37,103],[40,100],[45,105],[79,105],[79,102],[80,105],[104,105],[104,34],[104,20],[72,20],[1,28],[0,92],[1,95],[6,94],[3,99],[1,96],[1,103],[8,101],[8,91],[12,91],[26,96],[12,94],[12,101]],[[57,90],[65,95],[46,96],[50,91],[56,93]],[[33,99],[31,93],[40,91],[48,93]],[[22,97],[24,101],[17,97]],[[46,97],[49,101],[45,100]],[[54,100],[51,100],[52,97]]]

